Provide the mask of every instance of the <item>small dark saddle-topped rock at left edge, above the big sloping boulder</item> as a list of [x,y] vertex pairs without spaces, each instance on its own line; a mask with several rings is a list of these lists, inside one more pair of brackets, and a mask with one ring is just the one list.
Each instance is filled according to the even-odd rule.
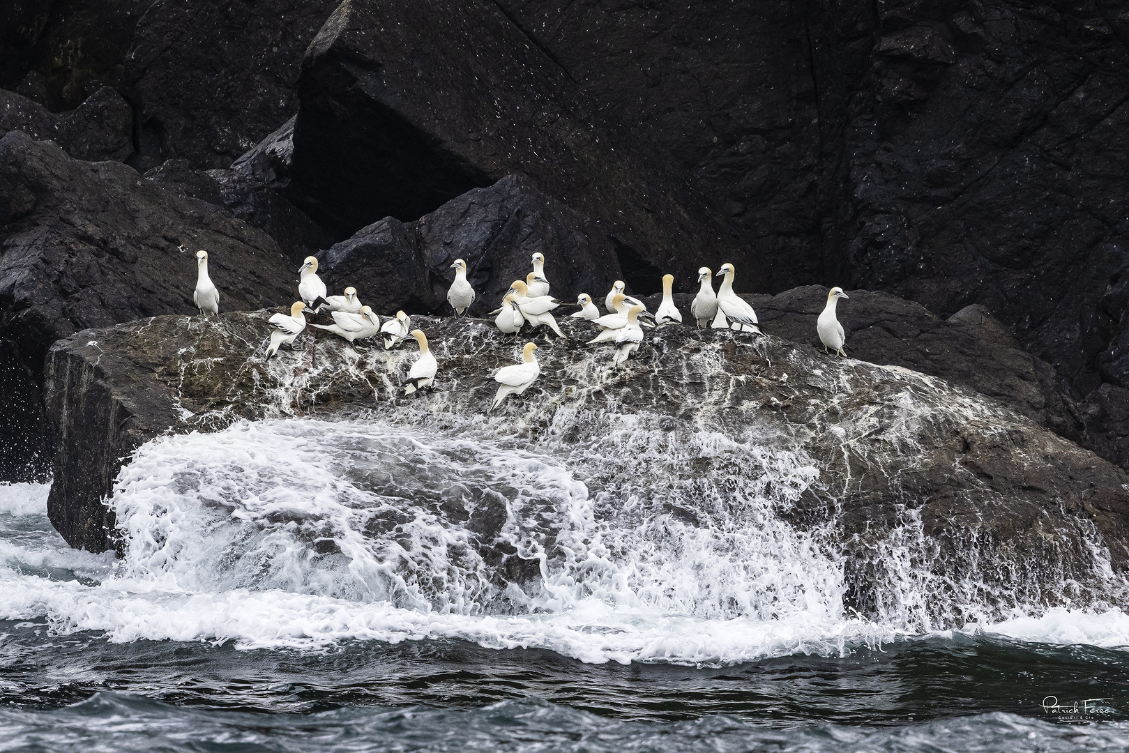
[[37,141],[50,139],[78,159],[125,161],[133,156],[133,111],[108,86],[60,114],[0,89],[0,137],[9,131],[23,131]]

